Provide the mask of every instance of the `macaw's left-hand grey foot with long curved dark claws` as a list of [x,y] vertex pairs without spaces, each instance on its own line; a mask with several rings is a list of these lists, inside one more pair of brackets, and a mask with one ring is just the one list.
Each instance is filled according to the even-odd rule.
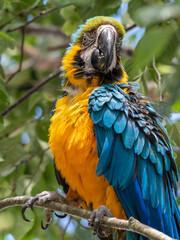
[[[22,218],[26,222],[31,222],[31,220],[27,219],[26,216],[25,216],[26,210],[31,209],[33,211],[34,204],[38,206],[38,205],[42,205],[42,204],[50,202],[50,201],[55,201],[55,202],[62,203],[62,197],[56,192],[44,191],[42,193],[37,194],[35,197],[30,198],[22,208],[22,212],[21,212]],[[51,213],[52,212],[53,212],[52,210],[45,208],[45,216],[46,216],[45,226],[43,225],[43,221],[41,221],[41,227],[42,227],[43,230],[48,229],[49,224],[51,223]],[[58,217],[59,216],[60,215],[58,215]],[[61,218],[62,217],[63,216],[61,216]]]

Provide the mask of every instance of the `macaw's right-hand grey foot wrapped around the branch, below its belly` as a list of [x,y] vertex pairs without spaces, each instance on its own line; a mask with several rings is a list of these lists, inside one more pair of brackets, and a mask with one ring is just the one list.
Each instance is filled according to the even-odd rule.
[[93,235],[100,239],[109,238],[112,235],[112,229],[102,226],[103,217],[113,217],[111,211],[106,206],[100,206],[93,210],[88,225],[93,228]]

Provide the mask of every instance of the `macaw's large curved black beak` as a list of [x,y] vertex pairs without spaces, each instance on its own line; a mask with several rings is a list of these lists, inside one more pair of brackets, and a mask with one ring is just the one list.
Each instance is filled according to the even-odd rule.
[[97,48],[91,56],[92,66],[99,71],[107,72],[114,58],[115,32],[107,27],[98,37]]

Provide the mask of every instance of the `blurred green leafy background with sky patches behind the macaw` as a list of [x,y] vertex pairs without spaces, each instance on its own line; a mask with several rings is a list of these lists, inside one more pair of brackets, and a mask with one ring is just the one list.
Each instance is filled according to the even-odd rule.
[[[59,67],[70,35],[98,15],[112,15],[126,27],[122,64],[129,80],[139,83],[139,92],[149,96],[164,116],[180,170],[179,0],[2,0],[1,199],[58,188],[48,127],[51,109],[62,93]],[[8,233],[16,240],[94,239],[84,221],[53,217],[44,232],[40,227],[44,212],[35,209],[28,214],[34,219],[31,223],[22,220],[19,207],[1,212],[0,240],[9,239]]]

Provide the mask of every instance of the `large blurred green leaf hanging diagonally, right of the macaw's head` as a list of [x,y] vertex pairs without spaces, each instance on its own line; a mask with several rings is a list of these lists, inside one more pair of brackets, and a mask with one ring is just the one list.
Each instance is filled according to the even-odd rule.
[[152,62],[153,57],[159,57],[166,49],[172,34],[173,31],[169,26],[148,29],[134,52],[136,67],[144,68]]

